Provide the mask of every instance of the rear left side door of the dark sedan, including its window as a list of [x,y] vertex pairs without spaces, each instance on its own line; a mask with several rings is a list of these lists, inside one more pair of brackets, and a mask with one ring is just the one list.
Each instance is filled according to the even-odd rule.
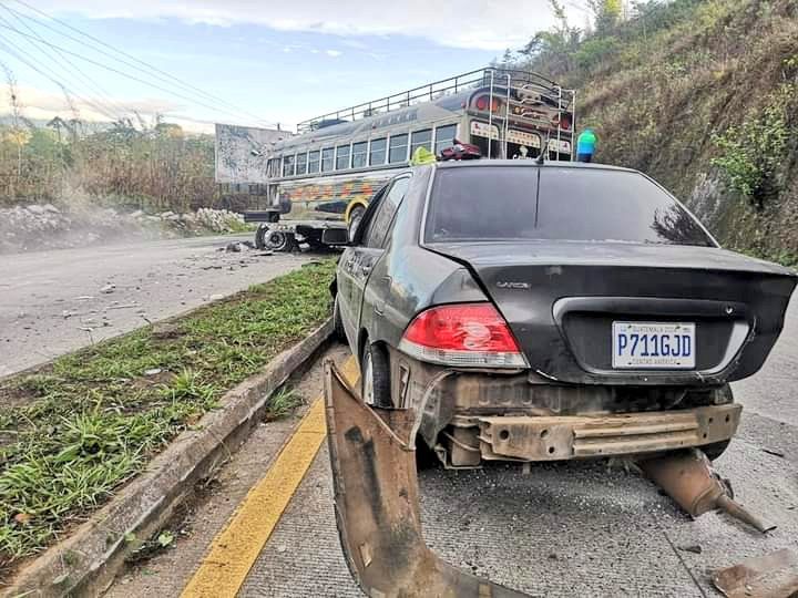
[[[407,193],[410,184],[410,174],[400,175],[395,178],[387,193],[385,194],[380,205],[374,213],[372,217],[368,223],[365,223],[367,228],[362,233],[362,243],[355,249],[352,255],[352,274],[351,274],[351,292],[352,301],[351,306],[357,310],[355,321],[357,326],[354,329],[354,337],[350,340],[357,341],[357,331],[360,327],[362,319],[361,315],[366,310],[374,310],[375,307],[379,309],[379,306],[366,305],[368,300],[377,300],[379,298],[365,299],[370,296],[366,296],[366,286],[369,285],[371,277],[371,270],[374,269],[377,261],[385,254],[385,243],[390,229],[393,216],[399,208],[405,194]],[[354,344],[356,346],[356,344]]]

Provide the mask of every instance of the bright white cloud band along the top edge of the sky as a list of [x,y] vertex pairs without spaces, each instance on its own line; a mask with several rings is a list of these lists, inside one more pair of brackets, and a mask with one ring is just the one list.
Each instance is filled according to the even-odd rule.
[[98,19],[177,18],[192,23],[250,23],[346,37],[418,35],[442,45],[493,51],[520,48],[553,23],[546,0],[41,0],[37,7]]

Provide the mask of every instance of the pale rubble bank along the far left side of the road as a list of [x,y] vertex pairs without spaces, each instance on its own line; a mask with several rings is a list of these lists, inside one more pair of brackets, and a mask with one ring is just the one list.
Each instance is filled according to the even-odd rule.
[[29,204],[0,208],[0,254],[86,247],[121,239],[172,238],[241,231],[244,218],[226,209],[176,214]]

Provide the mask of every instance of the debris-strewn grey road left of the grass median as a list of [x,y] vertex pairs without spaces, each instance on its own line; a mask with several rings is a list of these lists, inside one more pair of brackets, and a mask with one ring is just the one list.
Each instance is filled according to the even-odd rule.
[[285,274],[308,258],[198,237],[0,256],[0,377]]

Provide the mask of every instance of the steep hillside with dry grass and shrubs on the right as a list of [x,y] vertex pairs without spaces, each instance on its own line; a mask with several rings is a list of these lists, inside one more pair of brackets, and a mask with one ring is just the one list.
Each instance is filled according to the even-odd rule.
[[798,256],[798,2],[649,2],[610,31],[546,33],[523,61],[579,90],[597,159],[640,168],[732,248]]

